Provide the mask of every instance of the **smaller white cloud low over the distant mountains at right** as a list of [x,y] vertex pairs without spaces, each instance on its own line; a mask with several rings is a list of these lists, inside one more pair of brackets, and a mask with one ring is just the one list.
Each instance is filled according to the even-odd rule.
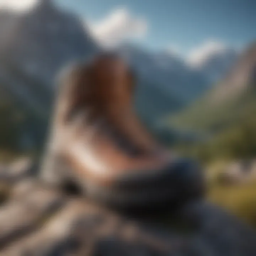
[[228,47],[224,43],[208,39],[198,47],[191,50],[188,54],[187,62],[191,66],[197,67],[213,54],[223,53],[227,49]]

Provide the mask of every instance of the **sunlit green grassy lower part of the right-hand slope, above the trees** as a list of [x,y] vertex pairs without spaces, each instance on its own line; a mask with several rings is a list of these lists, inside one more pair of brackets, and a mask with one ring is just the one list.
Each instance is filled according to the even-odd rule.
[[256,113],[256,90],[254,86],[239,95],[226,100],[213,100],[214,90],[203,98],[174,115],[167,116],[164,122],[172,128],[196,132],[218,132],[239,123],[244,115]]

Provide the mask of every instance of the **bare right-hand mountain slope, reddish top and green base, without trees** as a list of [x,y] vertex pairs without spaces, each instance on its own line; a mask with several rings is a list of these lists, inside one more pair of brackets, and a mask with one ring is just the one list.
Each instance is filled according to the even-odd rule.
[[223,131],[244,122],[255,112],[255,92],[256,44],[252,44],[217,86],[185,110],[170,117],[168,123],[172,127]]

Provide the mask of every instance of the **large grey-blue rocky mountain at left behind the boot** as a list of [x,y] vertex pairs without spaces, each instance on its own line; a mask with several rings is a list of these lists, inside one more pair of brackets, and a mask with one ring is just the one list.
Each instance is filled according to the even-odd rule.
[[98,50],[82,21],[50,0],[26,13],[2,10],[0,21],[1,86],[40,113],[49,108],[62,66]]

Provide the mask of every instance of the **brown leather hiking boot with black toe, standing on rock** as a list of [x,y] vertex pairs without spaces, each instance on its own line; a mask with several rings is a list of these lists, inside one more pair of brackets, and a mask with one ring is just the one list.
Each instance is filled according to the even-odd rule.
[[102,55],[69,70],[60,82],[43,178],[73,180],[87,196],[124,207],[201,196],[201,172],[144,129],[133,92],[133,74],[118,57]]

